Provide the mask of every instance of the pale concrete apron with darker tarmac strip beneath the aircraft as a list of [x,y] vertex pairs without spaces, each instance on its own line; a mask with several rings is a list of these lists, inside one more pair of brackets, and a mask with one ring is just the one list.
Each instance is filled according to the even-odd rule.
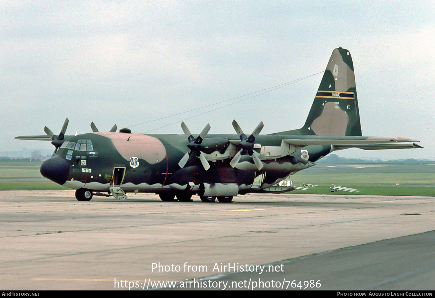
[[[434,197],[192,198],[162,202],[139,193],[79,202],[74,190],[0,191],[0,288],[137,290],[157,281],[285,278],[308,288],[320,280],[320,289],[435,289],[435,234],[425,233],[435,230]],[[231,273],[233,266],[256,271]]]

